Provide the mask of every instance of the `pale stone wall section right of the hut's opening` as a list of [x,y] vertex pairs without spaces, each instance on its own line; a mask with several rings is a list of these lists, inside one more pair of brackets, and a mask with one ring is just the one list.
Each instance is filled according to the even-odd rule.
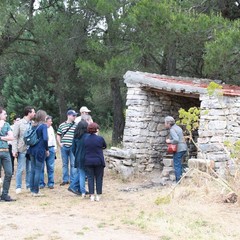
[[218,170],[229,160],[224,142],[236,142],[240,138],[240,98],[202,95],[200,100],[198,158],[214,160]]

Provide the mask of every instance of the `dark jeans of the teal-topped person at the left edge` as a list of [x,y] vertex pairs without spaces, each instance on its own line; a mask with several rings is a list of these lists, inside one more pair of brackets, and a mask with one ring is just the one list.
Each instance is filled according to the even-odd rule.
[[8,195],[12,179],[12,162],[9,152],[0,152],[0,165],[2,165],[5,175],[2,190],[2,198],[5,198]]

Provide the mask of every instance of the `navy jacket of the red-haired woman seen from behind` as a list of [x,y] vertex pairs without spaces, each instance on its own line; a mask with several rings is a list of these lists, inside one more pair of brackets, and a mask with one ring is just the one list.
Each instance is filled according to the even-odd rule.
[[103,156],[103,149],[107,144],[103,137],[96,134],[90,134],[84,140],[85,144],[85,166],[103,166],[105,161]]

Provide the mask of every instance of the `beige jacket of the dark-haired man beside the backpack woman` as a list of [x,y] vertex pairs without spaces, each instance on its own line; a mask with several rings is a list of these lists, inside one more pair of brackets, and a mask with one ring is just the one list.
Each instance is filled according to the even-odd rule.
[[26,129],[28,129],[30,126],[30,122],[27,121],[25,118],[22,118],[20,121],[18,121],[13,129],[13,136],[14,140],[12,141],[12,152],[26,152],[27,151],[27,145],[25,144],[23,140],[23,135]]

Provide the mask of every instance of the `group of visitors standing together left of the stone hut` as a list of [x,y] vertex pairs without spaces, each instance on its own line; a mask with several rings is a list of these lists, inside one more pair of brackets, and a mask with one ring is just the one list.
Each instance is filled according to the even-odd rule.
[[[13,175],[13,158],[17,158],[16,194],[22,192],[22,175],[26,172],[26,189],[33,197],[43,194],[39,189],[46,186],[44,182],[44,165],[47,168],[47,186],[54,188],[54,165],[57,143],[60,146],[62,158],[62,183],[70,183],[69,191],[81,195],[89,194],[91,201],[99,201],[102,194],[103,173],[105,161],[103,149],[106,142],[98,135],[99,126],[92,121],[87,107],[81,107],[81,116],[77,117],[74,110],[67,112],[67,120],[60,124],[57,130],[57,141],[52,127],[52,117],[43,110],[27,106],[24,117],[15,121],[14,125],[6,121],[7,113],[0,107],[0,166],[4,170],[1,201],[15,201],[9,196],[9,187]],[[27,146],[24,133],[33,129],[38,136],[34,146]],[[9,145],[11,144],[11,150]],[[70,165],[70,170],[69,170]],[[85,182],[88,182],[88,191]],[[94,191],[96,181],[96,192]],[[96,193],[96,194],[95,194]]]

